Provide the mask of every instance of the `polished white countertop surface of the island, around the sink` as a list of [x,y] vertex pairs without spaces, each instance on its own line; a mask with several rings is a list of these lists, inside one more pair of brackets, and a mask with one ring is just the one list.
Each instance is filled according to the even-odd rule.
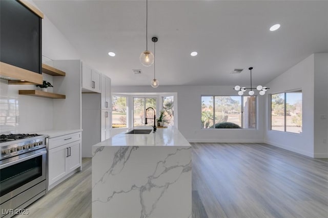
[[[140,126],[139,129],[152,128],[151,126]],[[136,128],[135,128],[136,129]],[[128,131],[127,131],[128,132]],[[168,128],[157,128],[156,132],[150,134],[125,134],[121,133],[99,142],[94,146],[191,146],[182,136],[179,130],[173,126]]]

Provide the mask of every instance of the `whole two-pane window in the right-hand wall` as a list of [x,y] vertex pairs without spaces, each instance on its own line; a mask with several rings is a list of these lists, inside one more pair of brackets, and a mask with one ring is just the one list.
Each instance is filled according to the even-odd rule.
[[271,95],[271,129],[302,133],[302,91]]

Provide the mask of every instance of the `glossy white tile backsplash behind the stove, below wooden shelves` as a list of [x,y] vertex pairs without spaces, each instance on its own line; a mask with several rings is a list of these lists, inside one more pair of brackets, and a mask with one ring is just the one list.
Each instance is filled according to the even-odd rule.
[[[44,74],[44,80],[53,84],[52,76]],[[37,89],[35,85],[8,85],[1,79],[0,88],[0,132],[32,133],[53,128],[52,99],[18,95],[18,90]]]

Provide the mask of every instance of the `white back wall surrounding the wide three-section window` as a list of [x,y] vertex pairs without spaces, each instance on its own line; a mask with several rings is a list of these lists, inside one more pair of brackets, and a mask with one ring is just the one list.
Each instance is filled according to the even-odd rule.
[[[201,129],[201,95],[236,95],[232,86],[112,86],[112,93],[175,92],[178,103],[178,129],[189,142],[263,142],[264,111],[258,110],[258,130]],[[258,97],[263,108],[264,97]]]

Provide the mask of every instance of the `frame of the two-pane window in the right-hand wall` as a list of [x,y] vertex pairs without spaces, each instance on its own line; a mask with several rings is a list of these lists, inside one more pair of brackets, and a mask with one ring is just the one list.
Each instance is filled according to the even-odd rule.
[[[302,124],[302,132],[301,133],[295,133],[295,132],[289,132],[287,131],[287,107],[286,107],[286,94],[287,93],[295,93],[295,92],[299,92],[302,94],[302,105],[303,105],[303,92],[302,89],[295,89],[295,90],[288,90],[288,91],[284,91],[284,92],[276,92],[276,93],[271,93],[270,94],[270,130],[271,131],[275,131],[275,132],[279,132],[279,133],[289,133],[289,134],[302,134],[303,133],[303,124]],[[272,95],[278,95],[278,94],[283,94],[283,116],[284,116],[284,127],[283,127],[283,131],[280,130],[276,130],[276,129],[272,129]],[[302,106],[302,120],[303,120],[303,106]]]

